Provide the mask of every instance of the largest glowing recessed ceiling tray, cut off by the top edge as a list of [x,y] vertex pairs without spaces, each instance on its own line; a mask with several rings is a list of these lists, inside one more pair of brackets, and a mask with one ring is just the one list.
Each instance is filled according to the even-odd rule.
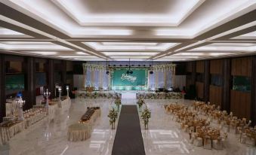
[[205,0],[53,0],[82,26],[177,26]]

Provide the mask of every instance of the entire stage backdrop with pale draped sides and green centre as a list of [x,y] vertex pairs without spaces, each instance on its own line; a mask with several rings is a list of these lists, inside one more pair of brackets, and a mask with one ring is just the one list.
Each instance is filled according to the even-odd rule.
[[[176,65],[171,63],[171,64],[162,64],[162,65],[138,65],[138,66],[123,66],[123,65],[98,65],[98,64],[91,64],[91,63],[84,63],[83,64],[83,72],[84,72],[84,86],[83,87],[95,87],[95,80],[98,80],[99,87],[103,87],[103,78],[107,78],[108,84],[107,87],[109,90],[149,90],[149,84],[150,84],[150,78],[149,74],[154,74],[155,77],[155,90],[159,88],[159,71],[165,73],[164,76],[164,88],[167,88],[167,82],[170,79],[168,79],[167,72],[171,72],[171,87],[175,87],[175,68]],[[139,70],[143,70],[146,72],[146,78],[143,79],[143,84],[137,84],[136,87],[134,87],[134,84],[131,85],[122,85],[122,84],[113,84],[113,78],[115,78],[116,71],[119,70],[124,70],[122,71],[123,75],[123,80],[131,80],[136,84],[136,81],[139,80],[140,77],[136,77],[137,73]],[[98,77],[95,77],[96,73],[99,73]],[[106,72],[106,77],[103,76],[103,72]],[[89,79],[90,81],[87,80],[88,74],[91,76]],[[135,78],[136,77],[136,78]],[[121,77],[120,77],[121,78]]]

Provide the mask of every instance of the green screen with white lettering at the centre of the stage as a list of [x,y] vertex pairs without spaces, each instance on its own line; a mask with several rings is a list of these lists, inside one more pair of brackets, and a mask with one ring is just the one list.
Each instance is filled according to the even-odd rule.
[[133,74],[127,74],[128,68],[116,68],[112,74],[113,90],[146,90],[147,68],[134,68]]

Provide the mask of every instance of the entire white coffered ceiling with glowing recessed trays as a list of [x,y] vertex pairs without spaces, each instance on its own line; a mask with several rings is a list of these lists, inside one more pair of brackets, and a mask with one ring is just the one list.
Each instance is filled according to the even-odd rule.
[[256,53],[256,0],[0,0],[0,52],[188,61]]

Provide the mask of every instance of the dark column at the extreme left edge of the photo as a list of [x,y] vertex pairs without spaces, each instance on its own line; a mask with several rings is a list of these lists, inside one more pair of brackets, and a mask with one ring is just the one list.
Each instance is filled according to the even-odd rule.
[[5,111],[5,54],[0,53],[0,123],[5,117]]

